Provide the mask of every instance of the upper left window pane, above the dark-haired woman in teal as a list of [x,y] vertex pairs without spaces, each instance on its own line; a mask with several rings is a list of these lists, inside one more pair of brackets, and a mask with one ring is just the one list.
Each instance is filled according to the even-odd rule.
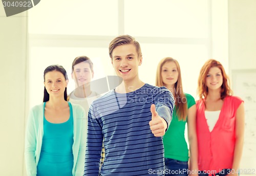
[[44,0],[29,13],[29,33],[117,35],[117,0]]

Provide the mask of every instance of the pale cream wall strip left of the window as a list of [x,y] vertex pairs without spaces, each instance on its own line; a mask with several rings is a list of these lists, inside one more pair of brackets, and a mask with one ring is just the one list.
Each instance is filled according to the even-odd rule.
[[[1,3],[2,4],[2,3]],[[0,5],[0,175],[22,175],[27,74],[26,12],[6,17]]]

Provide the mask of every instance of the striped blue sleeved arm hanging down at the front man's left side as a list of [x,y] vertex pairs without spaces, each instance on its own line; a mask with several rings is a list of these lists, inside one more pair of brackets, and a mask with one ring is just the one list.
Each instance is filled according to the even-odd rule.
[[91,106],[88,114],[87,147],[83,173],[83,175],[90,176],[99,175],[99,165],[103,142],[102,128],[99,120],[95,116],[94,111],[93,106]]

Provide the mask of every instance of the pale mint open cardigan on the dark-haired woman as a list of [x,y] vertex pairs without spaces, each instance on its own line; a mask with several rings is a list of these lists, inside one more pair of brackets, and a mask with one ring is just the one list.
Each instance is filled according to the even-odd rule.
[[[74,165],[72,174],[83,175],[86,151],[87,116],[78,104],[72,104],[74,119],[74,143],[72,146]],[[44,134],[44,103],[31,108],[25,135],[25,162],[28,176],[36,176],[40,157],[42,136]]]

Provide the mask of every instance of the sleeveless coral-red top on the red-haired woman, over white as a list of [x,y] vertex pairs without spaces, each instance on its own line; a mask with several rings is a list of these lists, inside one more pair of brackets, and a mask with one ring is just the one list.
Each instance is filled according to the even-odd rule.
[[204,115],[204,100],[200,99],[196,102],[199,170],[218,173],[222,169],[232,168],[236,142],[236,112],[242,102],[239,97],[226,97],[219,119],[211,132]]

